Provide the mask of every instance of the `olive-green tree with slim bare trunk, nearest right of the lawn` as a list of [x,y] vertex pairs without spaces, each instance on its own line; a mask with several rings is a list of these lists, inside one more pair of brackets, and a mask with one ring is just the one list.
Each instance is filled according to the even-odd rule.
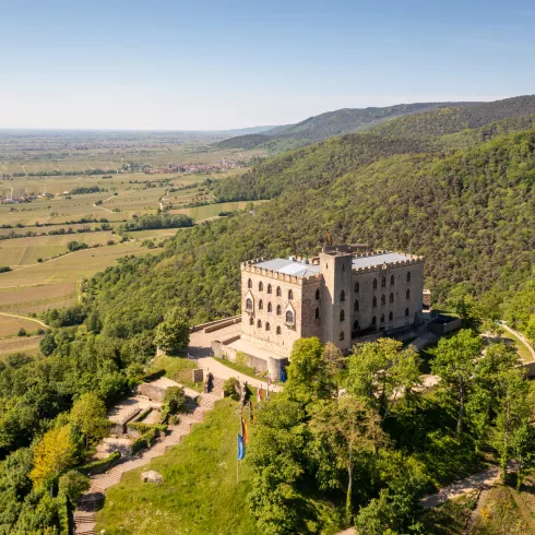
[[[345,513],[349,523],[353,514],[353,474],[359,455],[371,452],[385,442],[379,414],[366,404],[345,395],[340,400],[322,400],[311,406],[309,423],[311,449],[320,464],[320,477],[328,486],[340,485],[332,468],[347,475]],[[325,477],[326,475],[326,477]]]

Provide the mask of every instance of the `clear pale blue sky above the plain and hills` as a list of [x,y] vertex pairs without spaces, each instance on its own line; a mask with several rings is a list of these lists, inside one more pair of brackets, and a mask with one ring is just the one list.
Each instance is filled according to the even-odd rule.
[[533,0],[0,0],[0,128],[225,130],[535,93]]

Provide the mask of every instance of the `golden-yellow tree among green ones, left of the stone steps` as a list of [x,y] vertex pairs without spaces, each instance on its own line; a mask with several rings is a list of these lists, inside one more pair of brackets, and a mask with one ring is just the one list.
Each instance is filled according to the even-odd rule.
[[76,447],[70,426],[47,431],[34,449],[34,468],[29,477],[35,487],[47,487],[61,472],[73,464]]

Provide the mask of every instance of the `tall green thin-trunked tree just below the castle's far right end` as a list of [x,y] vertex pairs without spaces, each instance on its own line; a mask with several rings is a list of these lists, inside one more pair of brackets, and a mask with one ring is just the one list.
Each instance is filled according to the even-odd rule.
[[457,440],[463,431],[465,406],[482,349],[482,337],[468,329],[463,329],[451,338],[439,341],[437,356],[431,362],[432,373],[440,377],[449,393],[456,400]]

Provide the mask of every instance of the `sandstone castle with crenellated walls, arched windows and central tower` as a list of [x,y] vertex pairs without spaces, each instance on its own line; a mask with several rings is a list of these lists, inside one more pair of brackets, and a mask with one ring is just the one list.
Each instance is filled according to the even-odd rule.
[[326,246],[318,258],[241,263],[241,338],[286,359],[318,336],[348,350],[358,338],[421,322],[424,258]]

